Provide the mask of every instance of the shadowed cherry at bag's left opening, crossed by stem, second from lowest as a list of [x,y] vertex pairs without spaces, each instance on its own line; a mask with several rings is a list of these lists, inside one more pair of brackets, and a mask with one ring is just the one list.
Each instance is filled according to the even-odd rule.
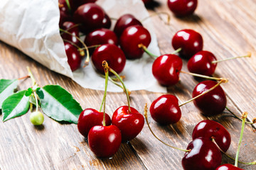
[[63,38],[63,40],[68,40],[69,42],[78,45],[78,47],[81,46],[81,42],[78,40],[78,38],[76,38],[79,37],[79,28],[75,25],[75,23],[71,21],[66,21],[63,23],[61,28],[63,28],[63,30],[67,30],[70,33],[62,33],[61,37]]

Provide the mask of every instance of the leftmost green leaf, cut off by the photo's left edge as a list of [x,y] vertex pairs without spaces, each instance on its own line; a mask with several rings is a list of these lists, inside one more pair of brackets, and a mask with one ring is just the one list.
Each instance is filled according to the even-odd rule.
[[18,79],[0,79],[0,109],[3,101],[14,94],[14,89],[18,86]]

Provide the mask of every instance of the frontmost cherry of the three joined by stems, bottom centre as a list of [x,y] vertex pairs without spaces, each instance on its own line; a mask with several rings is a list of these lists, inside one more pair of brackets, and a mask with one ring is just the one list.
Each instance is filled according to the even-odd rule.
[[96,125],[90,129],[87,139],[97,157],[112,157],[121,145],[122,135],[115,125]]

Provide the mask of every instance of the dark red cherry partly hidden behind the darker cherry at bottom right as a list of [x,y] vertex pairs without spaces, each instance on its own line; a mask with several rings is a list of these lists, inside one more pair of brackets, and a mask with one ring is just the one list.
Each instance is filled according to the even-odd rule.
[[198,137],[205,137],[209,140],[212,140],[213,137],[218,147],[220,147],[223,152],[227,152],[231,143],[231,137],[228,130],[226,130],[223,125],[220,125],[220,123],[213,120],[203,120],[196,125],[193,129],[192,139]]

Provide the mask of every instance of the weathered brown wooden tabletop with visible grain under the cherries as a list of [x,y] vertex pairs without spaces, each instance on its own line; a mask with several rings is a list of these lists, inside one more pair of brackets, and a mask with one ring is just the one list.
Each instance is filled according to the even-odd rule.
[[[166,0],[157,0],[159,5],[154,11],[167,11]],[[240,115],[249,113],[248,120],[256,118],[256,0],[215,0],[198,1],[194,16],[175,18],[171,14],[170,26],[165,24],[165,16],[151,18],[161,53],[170,53],[171,38],[176,31],[183,28],[197,30],[203,36],[204,50],[209,50],[218,59],[246,55],[252,52],[251,58],[238,59],[219,63],[215,75],[226,77],[228,84],[222,87],[228,97],[228,107]],[[183,61],[183,70],[186,61]],[[26,66],[31,67],[38,84],[59,84],[67,89],[80,103],[82,108],[100,108],[103,91],[82,89],[68,77],[50,71],[30,57],[23,55],[14,47],[0,42],[0,79],[16,79],[27,74]],[[198,81],[193,77],[181,74],[181,81],[168,88],[169,94],[178,97],[180,103],[191,98],[191,91]],[[18,89],[31,86],[29,79],[19,81]],[[132,91],[131,106],[141,113],[144,104],[154,101],[159,93],[149,91]],[[126,104],[124,94],[108,93],[107,113],[112,115],[119,106]],[[160,126],[149,117],[151,128],[162,140],[176,147],[186,148],[191,142],[193,127],[204,119],[216,120],[230,132],[232,143],[228,154],[235,157],[238,147],[241,122],[228,112],[223,115],[206,118],[188,103],[181,107],[182,118],[175,125]],[[0,115],[2,119],[3,115]],[[255,127],[245,126],[240,160],[252,162],[256,159]],[[0,169],[182,169],[183,152],[171,149],[157,141],[147,125],[131,142],[123,143],[117,154],[110,159],[98,159],[90,151],[85,138],[80,135],[76,125],[60,124],[45,116],[40,127],[29,121],[29,113],[21,117],[0,123]],[[223,155],[224,163],[234,162]],[[239,164],[243,169],[256,169],[256,166]]]

